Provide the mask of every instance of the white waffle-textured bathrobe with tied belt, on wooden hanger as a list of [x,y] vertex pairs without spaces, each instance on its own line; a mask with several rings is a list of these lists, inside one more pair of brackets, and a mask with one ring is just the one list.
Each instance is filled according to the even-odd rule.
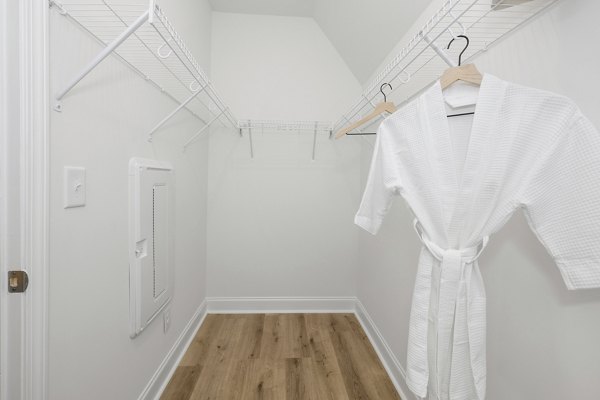
[[408,203],[423,247],[407,384],[420,397],[483,400],[477,258],[522,208],[567,287],[600,287],[600,135],[569,99],[491,75],[471,129],[453,124],[439,82],[381,124],[355,223],[375,234],[393,195]]

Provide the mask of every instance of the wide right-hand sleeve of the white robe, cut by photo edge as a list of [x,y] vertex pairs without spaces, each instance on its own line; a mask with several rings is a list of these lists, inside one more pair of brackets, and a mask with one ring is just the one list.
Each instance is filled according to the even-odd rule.
[[569,289],[600,287],[600,134],[579,111],[526,186],[529,224]]

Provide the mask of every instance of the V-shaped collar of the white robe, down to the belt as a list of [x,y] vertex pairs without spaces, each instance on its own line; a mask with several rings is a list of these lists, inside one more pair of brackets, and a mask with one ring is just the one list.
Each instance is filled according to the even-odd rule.
[[477,243],[480,238],[473,237],[465,226],[470,218],[479,218],[472,212],[488,176],[494,157],[493,135],[501,132],[501,107],[506,98],[506,82],[490,74],[484,74],[475,106],[475,115],[468,149],[460,177],[456,174],[456,158],[452,147],[451,132],[446,116],[444,94],[440,81],[427,89],[418,101],[419,118],[423,127],[423,143],[430,154],[431,176],[438,187],[440,213],[444,220],[444,232],[438,230],[440,237],[451,248],[460,248]]

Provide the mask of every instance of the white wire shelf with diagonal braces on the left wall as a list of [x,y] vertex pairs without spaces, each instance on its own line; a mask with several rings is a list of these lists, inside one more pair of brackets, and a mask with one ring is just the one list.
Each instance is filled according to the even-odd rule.
[[98,56],[57,93],[57,111],[62,110],[61,101],[70,90],[104,58],[114,54],[178,104],[172,113],[157,121],[148,132],[149,139],[182,109],[203,121],[203,130],[215,121],[237,128],[237,120],[154,1],[111,5],[104,0],[93,4],[50,0],[50,5],[103,46]]

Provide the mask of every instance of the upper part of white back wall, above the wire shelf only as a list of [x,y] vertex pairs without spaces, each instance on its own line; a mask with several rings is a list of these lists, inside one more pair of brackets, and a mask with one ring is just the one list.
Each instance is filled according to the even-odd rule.
[[312,18],[213,13],[212,80],[239,119],[338,118],[359,85]]

